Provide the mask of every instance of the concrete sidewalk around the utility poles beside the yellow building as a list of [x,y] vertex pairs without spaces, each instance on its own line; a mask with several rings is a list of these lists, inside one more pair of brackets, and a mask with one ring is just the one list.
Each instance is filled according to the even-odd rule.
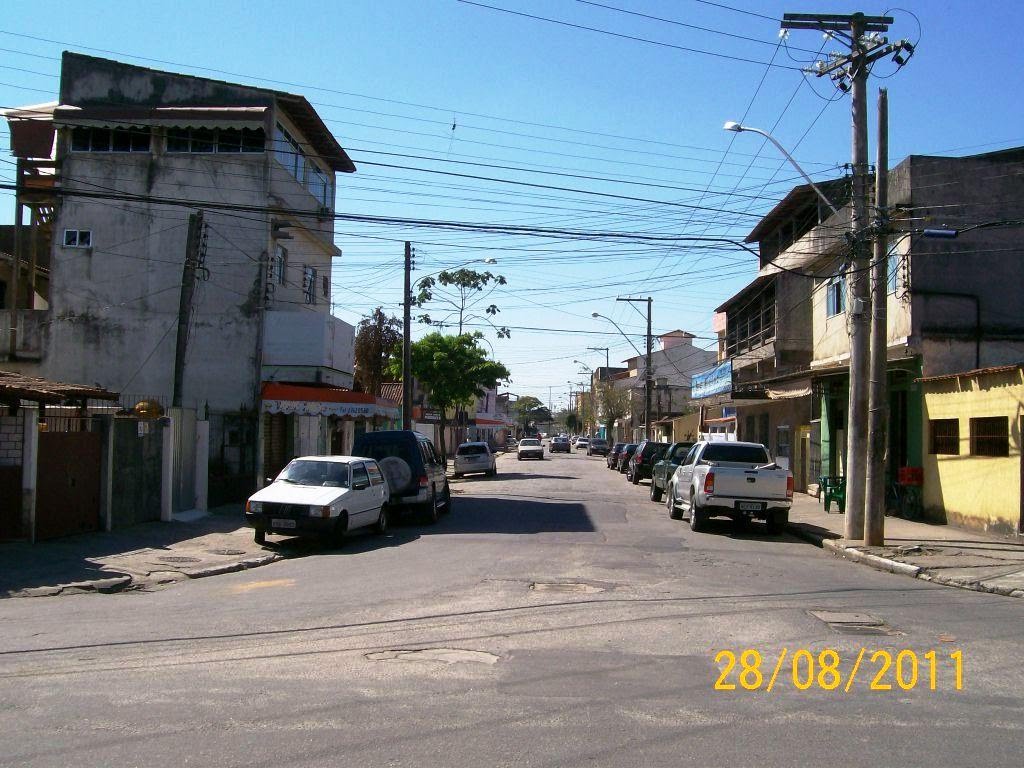
[[1024,539],[978,534],[951,525],[886,517],[886,546],[843,539],[846,516],[825,514],[821,502],[794,497],[790,532],[849,560],[936,584],[1024,597]]

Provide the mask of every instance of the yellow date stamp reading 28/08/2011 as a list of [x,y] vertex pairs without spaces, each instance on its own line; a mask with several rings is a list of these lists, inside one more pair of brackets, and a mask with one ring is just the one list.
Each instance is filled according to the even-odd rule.
[[782,648],[768,663],[754,648],[726,649],[715,654],[715,664],[719,668],[715,690],[723,691],[771,692],[779,683],[801,691],[817,688],[845,693],[853,690],[857,683],[870,691],[964,690],[962,650],[919,653],[860,648],[852,663],[844,665],[840,652],[833,648],[817,653],[806,649],[791,653],[788,648]]

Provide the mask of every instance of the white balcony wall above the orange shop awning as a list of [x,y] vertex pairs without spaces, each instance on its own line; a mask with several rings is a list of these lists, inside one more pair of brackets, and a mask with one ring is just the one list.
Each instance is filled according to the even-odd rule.
[[270,311],[263,381],[352,386],[355,329],[326,312]]

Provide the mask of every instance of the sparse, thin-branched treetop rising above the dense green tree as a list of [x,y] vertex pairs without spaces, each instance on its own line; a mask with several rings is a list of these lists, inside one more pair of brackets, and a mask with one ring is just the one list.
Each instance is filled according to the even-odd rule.
[[424,278],[414,301],[420,308],[434,304],[437,312],[435,316],[424,312],[417,319],[431,326],[457,325],[460,336],[466,323],[482,319],[498,332],[499,339],[507,339],[511,336],[508,328],[496,326],[490,319],[501,311],[498,305],[484,304],[498,287],[506,283],[501,274],[466,268],[445,269],[436,278]]

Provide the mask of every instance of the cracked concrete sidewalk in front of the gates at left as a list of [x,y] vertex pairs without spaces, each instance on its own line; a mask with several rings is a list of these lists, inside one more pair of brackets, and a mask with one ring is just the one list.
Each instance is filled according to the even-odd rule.
[[253,541],[242,506],[173,522],[28,544],[0,543],[0,597],[121,592],[244,570],[282,559]]

